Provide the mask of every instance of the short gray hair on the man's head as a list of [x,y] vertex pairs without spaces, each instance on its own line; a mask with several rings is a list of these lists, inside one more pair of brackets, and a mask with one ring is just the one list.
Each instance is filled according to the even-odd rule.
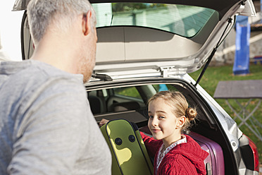
[[91,25],[95,28],[96,17],[88,0],[31,0],[27,6],[27,17],[33,42],[37,44],[42,39],[49,24],[54,24],[51,30],[64,32],[78,15],[87,11],[92,11]]

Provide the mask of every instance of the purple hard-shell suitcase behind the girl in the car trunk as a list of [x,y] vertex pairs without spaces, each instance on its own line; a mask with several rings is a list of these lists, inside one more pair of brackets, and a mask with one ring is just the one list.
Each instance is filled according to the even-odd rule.
[[224,175],[225,174],[225,164],[223,150],[218,145],[218,143],[205,138],[198,133],[189,134],[197,143],[201,146],[202,150],[209,153],[208,157],[204,160],[206,164],[206,174],[207,175]]

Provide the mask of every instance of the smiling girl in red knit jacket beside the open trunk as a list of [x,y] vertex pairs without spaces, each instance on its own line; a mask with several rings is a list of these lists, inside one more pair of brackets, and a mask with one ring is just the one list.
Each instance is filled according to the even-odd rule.
[[153,138],[140,133],[149,155],[155,155],[154,174],[206,174],[208,153],[182,135],[196,117],[185,97],[180,92],[158,92],[149,99],[148,114]]

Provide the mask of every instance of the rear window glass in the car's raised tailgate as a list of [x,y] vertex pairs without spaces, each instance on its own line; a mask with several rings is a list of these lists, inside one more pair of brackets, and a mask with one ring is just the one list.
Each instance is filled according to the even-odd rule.
[[103,3],[92,4],[96,11],[96,28],[139,26],[193,37],[218,12],[199,6],[175,4]]

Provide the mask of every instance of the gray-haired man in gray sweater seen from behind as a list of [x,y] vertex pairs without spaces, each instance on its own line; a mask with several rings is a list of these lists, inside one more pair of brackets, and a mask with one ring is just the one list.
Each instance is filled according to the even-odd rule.
[[89,108],[96,18],[87,0],[32,0],[35,52],[0,64],[0,174],[111,174]]

